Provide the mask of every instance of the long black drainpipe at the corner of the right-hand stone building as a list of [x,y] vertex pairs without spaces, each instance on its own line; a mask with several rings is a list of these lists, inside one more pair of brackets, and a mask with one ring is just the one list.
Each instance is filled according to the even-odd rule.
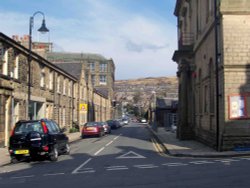
[[217,12],[218,9],[218,0],[214,0],[214,31],[215,31],[215,79],[216,79],[216,149],[217,151],[221,151],[220,147],[220,120],[219,120],[219,48],[218,48],[218,26],[219,26],[219,15]]

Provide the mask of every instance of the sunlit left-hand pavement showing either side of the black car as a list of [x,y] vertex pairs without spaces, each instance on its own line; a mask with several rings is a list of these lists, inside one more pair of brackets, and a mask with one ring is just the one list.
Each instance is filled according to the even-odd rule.
[[[80,132],[69,133],[67,134],[67,136],[69,137],[70,143],[81,139]],[[7,147],[0,148],[0,167],[9,163],[10,163],[10,156],[9,156],[8,148]]]

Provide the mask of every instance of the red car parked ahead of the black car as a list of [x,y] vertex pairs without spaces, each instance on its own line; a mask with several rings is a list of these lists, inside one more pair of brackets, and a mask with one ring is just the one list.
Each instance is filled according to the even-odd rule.
[[104,128],[102,124],[98,122],[88,122],[85,123],[83,128],[82,128],[82,138],[86,136],[103,136],[104,133]]

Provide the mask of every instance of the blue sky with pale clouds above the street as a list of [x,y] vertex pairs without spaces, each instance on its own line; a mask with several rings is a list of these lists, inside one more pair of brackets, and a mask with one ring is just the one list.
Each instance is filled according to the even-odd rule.
[[175,0],[0,0],[0,32],[29,33],[29,18],[45,14],[49,33],[33,41],[52,42],[53,51],[94,53],[112,58],[115,79],[175,76]]

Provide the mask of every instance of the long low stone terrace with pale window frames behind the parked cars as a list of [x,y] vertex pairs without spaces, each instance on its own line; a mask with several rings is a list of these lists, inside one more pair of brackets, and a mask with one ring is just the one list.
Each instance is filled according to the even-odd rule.
[[[30,106],[28,109],[28,57],[31,56]],[[7,146],[18,120],[48,118],[68,130],[74,122],[84,124],[94,117],[95,101],[106,101],[98,116],[110,118],[111,101],[87,85],[85,69],[80,77],[44,59],[16,40],[0,33],[0,145]],[[101,99],[100,99],[101,98]],[[93,119],[90,119],[93,120]]]

